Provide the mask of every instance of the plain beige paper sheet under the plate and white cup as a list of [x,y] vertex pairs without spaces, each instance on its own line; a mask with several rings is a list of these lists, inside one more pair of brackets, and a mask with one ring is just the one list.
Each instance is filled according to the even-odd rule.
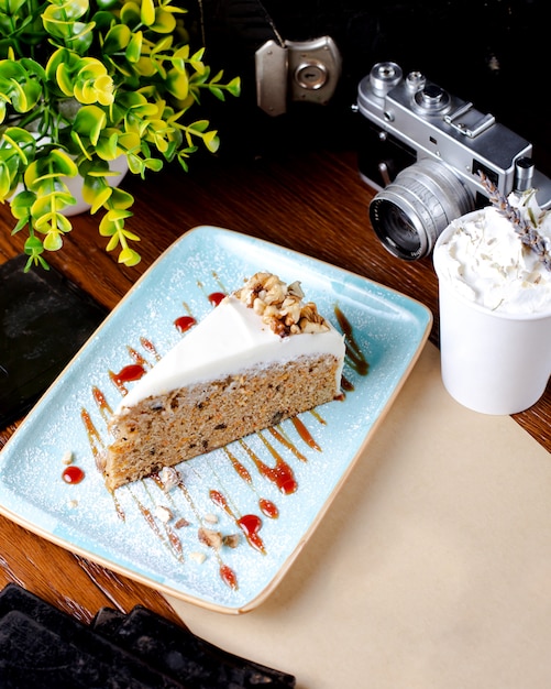
[[444,391],[427,344],[275,592],[199,636],[298,689],[549,689],[551,456]]

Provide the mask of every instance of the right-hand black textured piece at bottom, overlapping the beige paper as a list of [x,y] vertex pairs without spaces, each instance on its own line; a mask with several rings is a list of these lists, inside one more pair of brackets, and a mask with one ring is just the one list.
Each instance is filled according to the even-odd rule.
[[97,631],[192,689],[295,687],[293,675],[244,660],[141,605],[128,616],[119,617],[119,624],[113,613],[108,614],[102,623],[100,613],[95,623]]

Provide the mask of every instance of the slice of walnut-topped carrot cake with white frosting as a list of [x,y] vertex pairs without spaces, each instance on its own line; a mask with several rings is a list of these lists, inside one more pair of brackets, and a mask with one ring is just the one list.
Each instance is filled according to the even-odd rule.
[[110,422],[109,490],[341,395],[344,338],[298,282],[256,273],[125,395]]

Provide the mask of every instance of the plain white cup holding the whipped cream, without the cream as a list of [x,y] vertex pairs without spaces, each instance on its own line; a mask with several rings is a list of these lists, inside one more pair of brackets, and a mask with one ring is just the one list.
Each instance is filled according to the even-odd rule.
[[439,262],[439,247],[453,231],[442,232],[433,256],[442,381],[475,412],[517,414],[538,402],[551,375],[551,305],[540,314],[507,314],[459,294]]

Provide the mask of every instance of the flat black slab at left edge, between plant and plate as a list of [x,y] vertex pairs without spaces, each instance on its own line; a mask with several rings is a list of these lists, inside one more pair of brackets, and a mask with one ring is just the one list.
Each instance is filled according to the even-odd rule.
[[36,402],[107,316],[53,267],[24,272],[21,254],[0,265],[0,425]]

